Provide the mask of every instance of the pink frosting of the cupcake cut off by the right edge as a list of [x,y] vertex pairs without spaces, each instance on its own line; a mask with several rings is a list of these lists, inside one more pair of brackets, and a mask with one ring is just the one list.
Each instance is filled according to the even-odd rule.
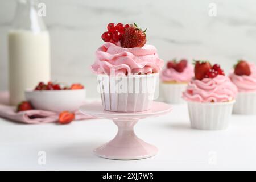
[[237,86],[238,92],[256,91],[256,67],[254,63],[249,63],[251,75],[236,75],[234,71],[229,74],[230,80]]

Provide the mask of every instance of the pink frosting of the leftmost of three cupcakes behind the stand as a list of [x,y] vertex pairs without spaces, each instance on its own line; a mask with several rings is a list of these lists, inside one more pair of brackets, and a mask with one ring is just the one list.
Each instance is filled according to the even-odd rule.
[[193,76],[194,70],[191,64],[187,64],[187,67],[182,73],[177,72],[174,68],[166,68],[160,74],[163,82],[189,82]]

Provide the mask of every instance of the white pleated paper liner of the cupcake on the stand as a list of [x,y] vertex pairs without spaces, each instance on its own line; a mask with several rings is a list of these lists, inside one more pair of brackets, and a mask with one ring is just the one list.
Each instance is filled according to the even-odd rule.
[[158,77],[158,73],[122,77],[98,75],[104,109],[118,112],[151,109]]

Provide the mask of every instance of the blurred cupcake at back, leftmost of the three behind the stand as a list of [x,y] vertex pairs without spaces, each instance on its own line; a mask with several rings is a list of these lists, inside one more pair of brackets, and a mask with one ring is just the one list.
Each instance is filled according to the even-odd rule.
[[166,69],[160,73],[164,102],[172,104],[183,103],[182,92],[193,76],[193,66],[188,64],[187,60],[182,59],[179,62],[176,62],[176,60],[168,61]]

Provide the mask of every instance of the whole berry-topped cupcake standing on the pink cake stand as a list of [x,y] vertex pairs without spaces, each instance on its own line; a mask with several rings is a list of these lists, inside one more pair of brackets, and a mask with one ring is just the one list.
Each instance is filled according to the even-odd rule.
[[146,30],[136,24],[108,24],[106,42],[96,51],[92,71],[105,110],[138,112],[152,107],[163,60],[155,46],[146,44]]

